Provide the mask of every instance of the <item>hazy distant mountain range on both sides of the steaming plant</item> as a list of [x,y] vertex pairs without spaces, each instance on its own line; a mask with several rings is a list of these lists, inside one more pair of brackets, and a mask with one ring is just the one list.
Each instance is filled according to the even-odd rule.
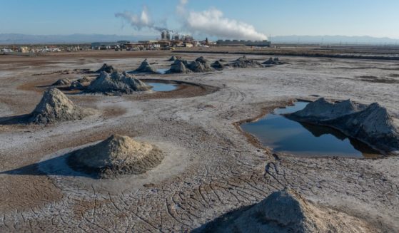
[[[141,41],[155,39],[156,36],[119,36],[104,34],[71,35],[26,35],[19,33],[0,33],[0,44],[30,43],[92,43],[115,41]],[[317,43],[317,44],[398,44],[399,39],[377,38],[372,36],[273,36],[272,43]]]

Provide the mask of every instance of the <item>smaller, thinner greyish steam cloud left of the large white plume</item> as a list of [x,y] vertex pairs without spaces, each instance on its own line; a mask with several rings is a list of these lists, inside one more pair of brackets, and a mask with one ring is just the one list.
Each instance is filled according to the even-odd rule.
[[130,11],[124,11],[123,13],[116,13],[116,18],[121,18],[127,21],[133,29],[140,31],[143,28],[154,29],[156,31],[166,30],[163,27],[155,26],[153,22],[151,22],[150,16],[148,14],[148,9],[146,6],[143,7],[143,11],[141,14],[133,14]]

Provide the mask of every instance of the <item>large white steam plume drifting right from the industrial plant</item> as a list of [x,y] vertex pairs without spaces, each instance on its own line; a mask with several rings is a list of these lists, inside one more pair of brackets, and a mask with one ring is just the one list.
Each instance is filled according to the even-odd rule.
[[[218,38],[233,38],[246,40],[266,40],[268,37],[256,31],[251,24],[223,17],[218,9],[207,11],[187,11],[188,0],[180,0],[176,11],[185,20],[185,28],[192,33],[206,34]],[[187,13],[188,12],[188,13]]]

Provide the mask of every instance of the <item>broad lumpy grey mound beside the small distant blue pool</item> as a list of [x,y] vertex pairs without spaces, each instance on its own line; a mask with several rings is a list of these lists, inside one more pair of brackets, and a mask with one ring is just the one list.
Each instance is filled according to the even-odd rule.
[[139,79],[134,78],[126,72],[120,73],[118,71],[111,74],[102,71],[100,76],[94,81],[91,81],[90,85],[87,87],[89,92],[107,94],[131,94],[136,91],[146,91],[150,89],[150,86]]

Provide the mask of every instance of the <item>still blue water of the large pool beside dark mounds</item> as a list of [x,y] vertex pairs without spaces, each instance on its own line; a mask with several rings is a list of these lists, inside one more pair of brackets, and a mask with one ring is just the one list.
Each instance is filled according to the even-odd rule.
[[281,115],[301,110],[307,104],[307,102],[298,101],[293,106],[278,108],[261,120],[241,125],[241,128],[255,135],[262,145],[272,147],[275,152],[303,156],[378,156],[378,152],[365,143],[348,138],[338,130],[298,123]]

